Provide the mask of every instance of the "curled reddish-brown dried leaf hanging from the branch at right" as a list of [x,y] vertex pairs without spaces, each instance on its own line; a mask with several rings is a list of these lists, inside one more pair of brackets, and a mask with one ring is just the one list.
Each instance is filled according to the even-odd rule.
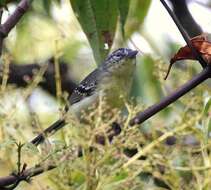
[[[204,60],[208,64],[211,64],[211,42],[208,41],[208,35],[202,34],[202,35],[196,36],[191,39],[191,42],[192,42],[193,47],[202,55]],[[176,61],[185,60],[185,59],[196,60],[195,56],[192,54],[191,49],[187,45],[180,48],[179,51],[170,60],[170,65],[169,65],[166,77],[164,79],[165,80],[167,79],[170,73],[171,67]]]

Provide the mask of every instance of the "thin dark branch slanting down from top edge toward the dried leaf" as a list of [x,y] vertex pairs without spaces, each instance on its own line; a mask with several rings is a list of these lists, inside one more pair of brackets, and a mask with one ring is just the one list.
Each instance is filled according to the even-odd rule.
[[188,47],[191,49],[191,52],[195,56],[195,58],[199,61],[201,66],[204,68],[206,67],[207,63],[201,56],[201,54],[197,51],[197,49],[193,46],[192,42],[190,41],[190,38],[187,34],[187,32],[184,30],[183,26],[180,24],[178,18],[176,15],[173,13],[173,11],[169,8],[165,0],[160,0],[163,6],[166,8],[168,11],[169,15],[171,16],[172,20],[176,24],[177,28],[179,29],[180,33],[182,34],[182,37],[184,38],[185,42],[187,43]]

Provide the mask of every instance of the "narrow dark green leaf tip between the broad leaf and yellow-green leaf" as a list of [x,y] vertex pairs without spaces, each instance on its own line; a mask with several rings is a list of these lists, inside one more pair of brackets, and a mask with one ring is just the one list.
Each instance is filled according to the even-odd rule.
[[130,5],[130,0],[119,0],[119,14],[120,14],[120,23],[121,23],[121,29],[122,29],[122,35],[123,38],[125,37],[125,23],[127,20],[128,12],[129,12],[129,5]]

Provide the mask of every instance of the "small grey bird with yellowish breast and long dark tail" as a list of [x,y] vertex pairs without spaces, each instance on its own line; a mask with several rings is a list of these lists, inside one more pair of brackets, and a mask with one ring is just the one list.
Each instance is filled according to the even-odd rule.
[[[69,97],[70,106],[65,110],[80,115],[82,110],[93,105],[100,96],[105,97],[106,104],[111,109],[121,109],[130,92],[137,53],[137,50],[129,48],[113,51],[73,90]],[[57,120],[31,143],[41,143],[49,132],[56,131],[64,125],[66,125],[64,118]]]

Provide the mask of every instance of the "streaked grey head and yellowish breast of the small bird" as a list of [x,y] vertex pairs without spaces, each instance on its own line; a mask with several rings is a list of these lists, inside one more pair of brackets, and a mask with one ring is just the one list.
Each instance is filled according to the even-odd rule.
[[[99,89],[110,107],[124,106],[128,98],[138,51],[120,48],[112,52],[100,67]],[[120,98],[122,97],[122,98]]]

